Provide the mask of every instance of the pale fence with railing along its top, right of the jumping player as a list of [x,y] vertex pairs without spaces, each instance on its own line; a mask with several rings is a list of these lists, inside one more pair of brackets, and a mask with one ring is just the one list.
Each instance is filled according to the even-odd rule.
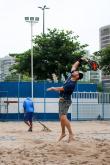
[[76,92],[72,96],[72,120],[110,119],[110,93]]

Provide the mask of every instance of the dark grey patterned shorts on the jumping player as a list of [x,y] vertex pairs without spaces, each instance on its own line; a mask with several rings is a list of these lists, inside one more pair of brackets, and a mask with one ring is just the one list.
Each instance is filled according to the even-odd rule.
[[67,115],[71,103],[71,100],[59,100],[59,116]]

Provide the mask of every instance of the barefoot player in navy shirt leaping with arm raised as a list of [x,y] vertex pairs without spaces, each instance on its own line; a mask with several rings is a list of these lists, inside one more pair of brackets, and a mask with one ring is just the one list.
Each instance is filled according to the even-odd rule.
[[61,136],[59,138],[59,141],[62,140],[66,136],[65,127],[67,128],[67,130],[69,132],[68,142],[74,140],[74,134],[72,132],[70,122],[67,118],[67,113],[68,113],[68,109],[72,103],[71,95],[75,89],[75,85],[76,85],[78,80],[83,78],[83,74],[79,73],[79,71],[77,71],[78,66],[81,64],[81,62],[83,60],[84,59],[82,57],[72,65],[71,75],[69,76],[69,78],[66,80],[66,82],[63,84],[62,87],[47,88],[47,91],[60,92],[59,118],[60,118],[62,133],[61,133]]

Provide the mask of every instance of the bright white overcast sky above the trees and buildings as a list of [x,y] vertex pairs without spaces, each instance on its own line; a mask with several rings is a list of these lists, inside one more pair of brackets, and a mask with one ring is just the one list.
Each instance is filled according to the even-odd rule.
[[24,17],[39,17],[33,36],[47,29],[72,30],[92,54],[99,50],[99,28],[110,25],[110,0],[0,0],[0,58],[31,48],[31,26]]

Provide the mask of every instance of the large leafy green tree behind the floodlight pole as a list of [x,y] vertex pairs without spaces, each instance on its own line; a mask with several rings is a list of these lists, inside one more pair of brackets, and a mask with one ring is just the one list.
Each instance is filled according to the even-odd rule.
[[[70,71],[71,64],[76,58],[85,54],[78,36],[72,31],[64,32],[57,29],[48,29],[47,34],[37,35],[33,38],[33,70],[34,80],[52,79],[52,74],[61,79]],[[31,51],[27,50],[22,54],[13,54],[16,57],[16,64],[11,69],[18,73],[31,75]]]

